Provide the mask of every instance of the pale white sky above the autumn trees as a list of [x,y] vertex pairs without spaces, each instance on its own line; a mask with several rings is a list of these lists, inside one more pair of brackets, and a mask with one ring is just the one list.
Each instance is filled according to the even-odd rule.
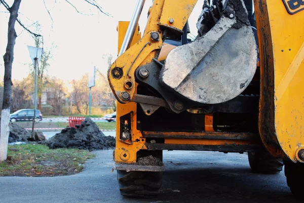
[[[13,0],[6,1],[10,6]],[[44,4],[45,2],[45,4]],[[117,58],[118,21],[129,21],[137,0],[96,0],[102,9],[109,14],[98,12],[84,0],[70,0],[78,13],[65,0],[27,0],[22,1],[19,19],[31,30],[35,22],[42,25],[44,48],[52,48],[53,57],[49,61],[48,75],[56,76],[64,81],[78,80],[89,73],[93,66],[106,74],[107,56]],[[139,20],[143,32],[148,8],[152,0],[146,0]],[[189,17],[189,26],[193,35],[197,35],[196,21],[201,13],[203,0],[198,3]],[[48,14],[47,9],[50,12]],[[5,54],[9,13],[0,5],[0,55]],[[52,21],[53,19],[53,21]],[[30,26],[31,25],[31,26]],[[31,59],[27,45],[34,46],[32,37],[16,22],[17,39],[12,70],[12,79],[21,80],[29,73]],[[4,62],[0,60],[0,77],[4,76]]]

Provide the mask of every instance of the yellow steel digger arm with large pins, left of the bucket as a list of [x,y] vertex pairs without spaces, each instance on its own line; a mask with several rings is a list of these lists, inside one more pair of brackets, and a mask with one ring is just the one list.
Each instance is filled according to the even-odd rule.
[[[197,0],[187,0],[179,1],[178,3],[165,0],[154,1],[153,9],[150,11],[142,39],[120,55],[108,71],[108,81],[111,90],[120,103],[126,104],[133,100],[136,89],[134,77],[136,69],[140,65],[148,63],[153,60],[153,58],[157,57],[156,50],[162,48],[166,29],[161,28],[161,24],[159,23],[161,22],[164,24],[168,17],[167,15],[171,13],[172,7],[170,5],[176,4],[175,9],[177,8],[176,6],[178,6],[180,12],[174,14],[175,19],[174,23],[172,22],[172,26],[181,29],[184,27],[196,1]],[[140,9],[141,4],[139,4],[136,9],[136,15],[134,15],[134,20],[130,23],[130,29],[134,27],[133,24],[139,16]],[[128,32],[128,36],[130,35],[131,33]],[[126,37],[126,42],[131,40],[131,36],[128,36]],[[124,49],[122,49],[122,52]]]

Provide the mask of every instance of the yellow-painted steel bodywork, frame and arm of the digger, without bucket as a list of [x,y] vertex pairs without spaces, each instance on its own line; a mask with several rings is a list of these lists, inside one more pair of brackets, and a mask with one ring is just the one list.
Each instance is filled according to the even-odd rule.
[[[134,72],[138,66],[151,62],[161,50],[159,60],[166,58],[171,45],[164,45],[160,25],[180,31],[191,14],[196,1],[156,0],[150,9],[149,19],[143,37],[136,29],[131,47],[122,54],[110,67],[109,73],[117,66],[124,67],[121,80],[108,75],[113,93],[117,96],[117,129],[121,129],[120,117],[131,113],[132,141],[127,143],[120,139],[117,130],[115,161],[132,163],[137,161],[137,152],[146,150],[144,135],[159,135],[164,137],[164,144],[170,145],[201,145],[201,146],[261,146],[273,156],[290,159],[293,162],[303,162],[298,152],[304,149],[304,11],[296,9],[291,14],[288,1],[258,0],[254,1],[255,15],[260,54],[260,101],[259,101],[259,133],[225,133],[214,132],[212,115],[205,116],[206,131],[204,132],[142,132],[137,129],[137,104],[124,101],[120,95],[127,91],[133,98],[136,94]],[[171,5],[171,6],[170,6]],[[178,12],[177,12],[178,10]],[[168,20],[174,19],[174,23]],[[127,30],[127,22],[120,22],[119,49]],[[160,40],[150,40],[150,33],[160,33]],[[128,75],[129,74],[129,75]],[[126,82],[131,81],[132,87],[126,88]],[[130,86],[129,86],[130,87]],[[174,116],[174,114],[172,114]],[[218,139],[218,137],[221,139]],[[203,139],[208,137],[208,139]],[[214,138],[214,139],[213,139]],[[220,148],[220,147],[219,147]],[[194,148],[195,150],[195,148]],[[201,149],[202,150],[202,149]],[[232,150],[233,151],[233,150]]]

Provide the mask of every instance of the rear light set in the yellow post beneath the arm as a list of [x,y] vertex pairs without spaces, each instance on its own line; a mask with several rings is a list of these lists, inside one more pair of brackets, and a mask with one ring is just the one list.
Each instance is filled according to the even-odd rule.
[[132,112],[120,117],[120,140],[132,144],[132,130],[131,130]]

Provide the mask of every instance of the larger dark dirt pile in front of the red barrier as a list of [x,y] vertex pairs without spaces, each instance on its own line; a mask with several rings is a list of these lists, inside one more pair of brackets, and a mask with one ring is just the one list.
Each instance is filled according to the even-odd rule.
[[77,128],[67,127],[45,143],[51,148],[78,148],[88,150],[112,149],[115,138],[105,136],[90,118]]

